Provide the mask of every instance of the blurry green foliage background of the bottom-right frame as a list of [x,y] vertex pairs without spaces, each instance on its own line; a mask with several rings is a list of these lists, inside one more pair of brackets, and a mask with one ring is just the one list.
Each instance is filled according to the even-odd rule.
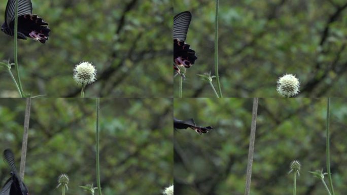
[[[330,155],[335,194],[347,191],[346,99],[331,99]],[[253,99],[181,99],[174,115],[214,129],[175,132],[177,194],[244,194]],[[326,195],[326,99],[259,99],[251,194],[293,194],[292,160],[302,168],[297,194]],[[327,177],[325,178],[327,182]]]

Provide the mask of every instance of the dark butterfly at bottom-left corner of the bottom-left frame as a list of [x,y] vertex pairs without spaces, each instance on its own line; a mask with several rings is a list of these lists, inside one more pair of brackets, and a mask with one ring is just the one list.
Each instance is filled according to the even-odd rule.
[[29,195],[27,187],[17,173],[14,155],[10,149],[4,151],[4,159],[11,168],[11,177],[6,181],[0,195]]

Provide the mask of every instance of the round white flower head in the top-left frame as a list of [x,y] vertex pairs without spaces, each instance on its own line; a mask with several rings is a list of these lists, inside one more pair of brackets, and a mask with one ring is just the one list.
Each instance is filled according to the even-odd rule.
[[96,69],[92,63],[83,61],[74,69],[74,79],[79,84],[91,84],[96,78]]

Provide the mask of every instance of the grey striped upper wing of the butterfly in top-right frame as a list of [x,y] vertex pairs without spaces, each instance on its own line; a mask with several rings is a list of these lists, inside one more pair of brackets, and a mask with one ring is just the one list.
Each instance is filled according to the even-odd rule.
[[186,41],[191,20],[192,14],[188,11],[181,12],[173,17],[173,39]]

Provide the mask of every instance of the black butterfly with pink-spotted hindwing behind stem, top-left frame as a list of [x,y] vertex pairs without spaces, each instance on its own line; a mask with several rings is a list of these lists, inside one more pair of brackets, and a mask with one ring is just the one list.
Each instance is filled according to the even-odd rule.
[[[1,31],[9,36],[14,36],[16,0],[7,2],[5,22]],[[49,32],[48,23],[37,15],[32,15],[31,0],[18,0],[18,39],[29,37],[35,41],[46,43]]]

